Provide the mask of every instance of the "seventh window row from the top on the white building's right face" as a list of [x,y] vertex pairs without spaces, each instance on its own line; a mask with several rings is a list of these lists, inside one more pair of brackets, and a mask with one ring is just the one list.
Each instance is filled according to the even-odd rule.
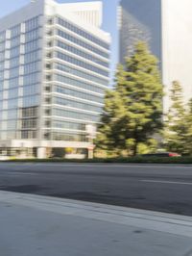
[[54,87],[55,92],[59,92],[65,95],[73,96],[80,99],[85,99],[97,103],[104,103],[104,98],[100,96],[95,96],[92,94],[88,94],[86,92],[78,91],[78,90],[72,90],[64,87],[55,86]]

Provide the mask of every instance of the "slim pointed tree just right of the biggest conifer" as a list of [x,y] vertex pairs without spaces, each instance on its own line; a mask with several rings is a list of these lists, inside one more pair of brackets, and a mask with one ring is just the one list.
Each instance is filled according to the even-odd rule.
[[169,151],[183,153],[187,133],[186,110],[183,103],[182,88],[178,81],[172,83],[170,100],[172,104],[165,121],[165,145]]

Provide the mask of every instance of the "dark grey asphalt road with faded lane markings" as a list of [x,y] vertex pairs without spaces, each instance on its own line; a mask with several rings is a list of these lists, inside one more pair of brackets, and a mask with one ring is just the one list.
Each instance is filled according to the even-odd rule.
[[192,166],[0,163],[0,190],[192,216]]

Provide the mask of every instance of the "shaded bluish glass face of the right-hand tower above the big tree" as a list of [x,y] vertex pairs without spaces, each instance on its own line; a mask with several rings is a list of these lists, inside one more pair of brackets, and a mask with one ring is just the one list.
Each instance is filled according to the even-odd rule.
[[148,42],[161,60],[161,0],[121,0],[120,62],[138,40]]

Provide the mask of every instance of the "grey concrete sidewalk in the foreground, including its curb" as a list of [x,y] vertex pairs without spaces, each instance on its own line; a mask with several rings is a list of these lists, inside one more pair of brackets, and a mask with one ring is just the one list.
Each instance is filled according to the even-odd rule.
[[0,256],[191,256],[192,218],[0,192]]

